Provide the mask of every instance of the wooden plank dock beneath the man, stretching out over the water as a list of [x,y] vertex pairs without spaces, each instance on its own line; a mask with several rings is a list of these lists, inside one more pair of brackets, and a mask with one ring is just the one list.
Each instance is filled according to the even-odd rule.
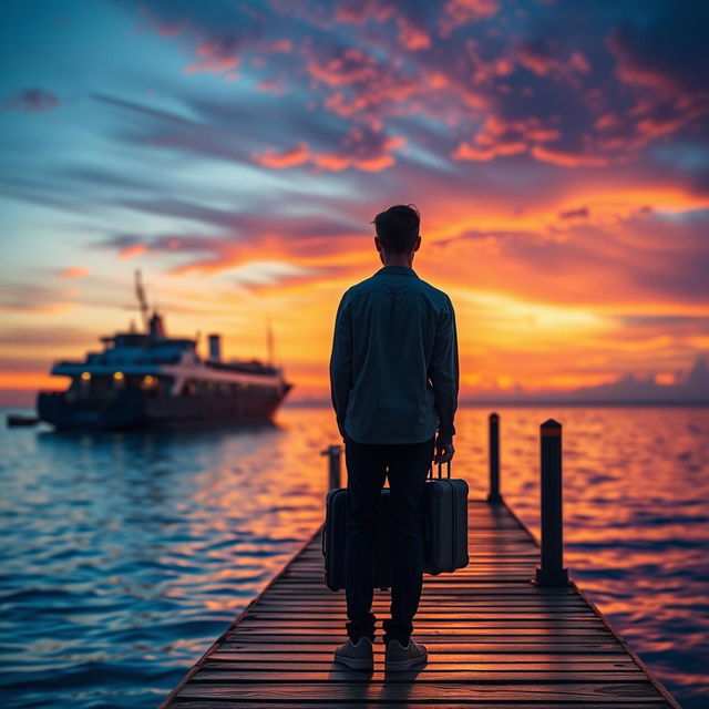
[[[504,503],[469,511],[471,564],[424,577],[423,668],[384,672],[381,631],[373,672],[332,662],[347,639],[345,597],[323,584],[320,530],[162,707],[679,708],[575,584],[532,583],[540,547]],[[376,592],[379,620],[388,599]]]

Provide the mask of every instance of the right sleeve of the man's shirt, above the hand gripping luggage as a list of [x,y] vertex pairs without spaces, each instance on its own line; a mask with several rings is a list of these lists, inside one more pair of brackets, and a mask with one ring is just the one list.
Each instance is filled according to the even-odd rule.
[[435,394],[439,434],[441,438],[452,439],[455,435],[453,418],[458,409],[459,364],[455,312],[448,297],[439,316],[429,378]]

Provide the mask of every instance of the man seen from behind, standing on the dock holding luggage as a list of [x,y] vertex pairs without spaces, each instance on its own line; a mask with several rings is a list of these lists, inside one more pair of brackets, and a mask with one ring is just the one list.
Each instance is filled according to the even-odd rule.
[[395,205],[373,220],[383,264],[342,296],[330,358],[337,423],[348,472],[345,553],[349,640],[336,661],[373,667],[372,543],[384,479],[391,489],[391,618],[383,621],[388,670],[427,661],[411,640],[423,579],[422,497],[433,462],[453,458],[458,341],[450,298],[412,268],[420,215]]

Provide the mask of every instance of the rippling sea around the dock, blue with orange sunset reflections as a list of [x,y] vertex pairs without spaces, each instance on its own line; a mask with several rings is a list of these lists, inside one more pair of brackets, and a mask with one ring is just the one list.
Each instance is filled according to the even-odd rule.
[[[566,562],[706,707],[709,410],[501,409],[502,486],[538,531],[538,424],[564,424]],[[486,409],[456,473],[485,494]],[[0,431],[2,707],[155,707],[322,520],[326,409],[240,432]]]

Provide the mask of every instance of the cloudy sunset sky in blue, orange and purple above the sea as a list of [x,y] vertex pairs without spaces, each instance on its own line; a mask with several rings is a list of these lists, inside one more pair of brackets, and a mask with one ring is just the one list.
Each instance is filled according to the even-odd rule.
[[422,213],[462,390],[709,353],[709,4],[6,0],[0,390],[138,321],[327,395],[373,216]]

